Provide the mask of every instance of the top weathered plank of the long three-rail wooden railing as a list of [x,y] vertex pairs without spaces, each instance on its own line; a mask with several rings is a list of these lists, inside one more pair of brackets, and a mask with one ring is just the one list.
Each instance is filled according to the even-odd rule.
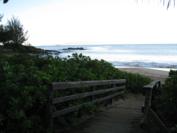
[[125,84],[125,79],[119,80],[93,80],[93,81],[76,81],[76,82],[54,82],[53,90],[64,90],[69,88],[91,87],[98,85]]

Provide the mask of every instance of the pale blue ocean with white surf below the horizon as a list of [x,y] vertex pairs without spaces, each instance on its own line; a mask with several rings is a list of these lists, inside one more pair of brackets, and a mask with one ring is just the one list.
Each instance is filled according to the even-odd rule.
[[[60,51],[60,57],[81,53],[92,59],[104,59],[117,68],[143,67],[159,70],[177,69],[177,44],[121,44],[121,45],[53,45],[39,46]],[[85,50],[63,50],[82,47]]]

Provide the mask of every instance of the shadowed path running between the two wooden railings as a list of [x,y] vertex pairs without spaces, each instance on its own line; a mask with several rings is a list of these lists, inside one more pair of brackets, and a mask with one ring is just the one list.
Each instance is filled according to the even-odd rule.
[[144,133],[139,124],[144,97],[128,95],[89,120],[77,133]]

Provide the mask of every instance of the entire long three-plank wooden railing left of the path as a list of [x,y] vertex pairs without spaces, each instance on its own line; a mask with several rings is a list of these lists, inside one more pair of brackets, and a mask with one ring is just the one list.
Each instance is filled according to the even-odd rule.
[[[120,80],[100,80],[100,81],[77,81],[77,82],[55,82],[49,89],[50,101],[50,128],[53,129],[53,119],[61,115],[66,115],[74,111],[78,111],[85,105],[101,103],[104,101],[112,101],[116,96],[120,96],[125,91],[125,79]],[[106,86],[106,87],[105,87]],[[98,89],[92,89],[97,87]],[[73,90],[78,88],[91,88],[89,91],[82,91],[76,93]],[[101,88],[101,89],[100,89]],[[63,91],[74,92],[73,94],[55,97],[55,92]],[[90,97],[90,98],[89,98]],[[58,104],[88,98],[87,102],[57,109]]]

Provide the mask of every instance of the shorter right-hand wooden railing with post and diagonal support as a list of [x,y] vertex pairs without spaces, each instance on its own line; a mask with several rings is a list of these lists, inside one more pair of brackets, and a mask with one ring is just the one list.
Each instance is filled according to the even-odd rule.
[[169,133],[169,129],[159,118],[157,113],[152,108],[152,100],[155,98],[155,92],[161,88],[160,81],[153,81],[150,84],[144,86],[145,91],[145,103],[144,103],[144,119],[141,125],[146,126],[150,132]]

